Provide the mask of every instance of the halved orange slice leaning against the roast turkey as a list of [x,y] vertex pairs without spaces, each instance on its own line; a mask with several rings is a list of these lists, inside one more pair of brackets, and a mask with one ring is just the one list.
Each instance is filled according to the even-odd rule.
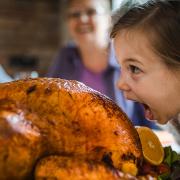
[[164,149],[157,135],[148,127],[136,128],[142,144],[143,156],[153,165],[159,165],[164,159]]

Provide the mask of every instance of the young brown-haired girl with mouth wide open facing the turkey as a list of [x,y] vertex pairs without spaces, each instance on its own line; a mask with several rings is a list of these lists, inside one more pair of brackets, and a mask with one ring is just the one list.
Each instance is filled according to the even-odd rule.
[[180,141],[180,1],[153,0],[120,12],[111,32],[118,87],[144,106],[149,120],[169,122]]

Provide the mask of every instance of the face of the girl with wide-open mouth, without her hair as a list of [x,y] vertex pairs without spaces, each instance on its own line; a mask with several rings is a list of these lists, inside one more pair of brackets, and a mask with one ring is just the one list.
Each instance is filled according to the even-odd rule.
[[114,39],[121,77],[118,88],[127,99],[143,104],[149,120],[166,123],[180,112],[177,75],[154,53],[145,34],[122,30]]

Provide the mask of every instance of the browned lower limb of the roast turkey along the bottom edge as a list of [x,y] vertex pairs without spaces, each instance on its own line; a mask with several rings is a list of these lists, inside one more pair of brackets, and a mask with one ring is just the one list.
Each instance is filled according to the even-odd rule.
[[129,174],[110,169],[100,162],[75,157],[48,156],[38,162],[36,180],[137,180]]

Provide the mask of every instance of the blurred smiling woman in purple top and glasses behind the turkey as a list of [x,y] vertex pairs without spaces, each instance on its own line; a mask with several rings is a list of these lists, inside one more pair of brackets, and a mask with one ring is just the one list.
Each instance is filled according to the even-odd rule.
[[66,19],[73,40],[58,52],[47,76],[81,81],[114,100],[134,125],[156,128],[116,88],[120,70],[109,40],[109,0],[68,0]]

